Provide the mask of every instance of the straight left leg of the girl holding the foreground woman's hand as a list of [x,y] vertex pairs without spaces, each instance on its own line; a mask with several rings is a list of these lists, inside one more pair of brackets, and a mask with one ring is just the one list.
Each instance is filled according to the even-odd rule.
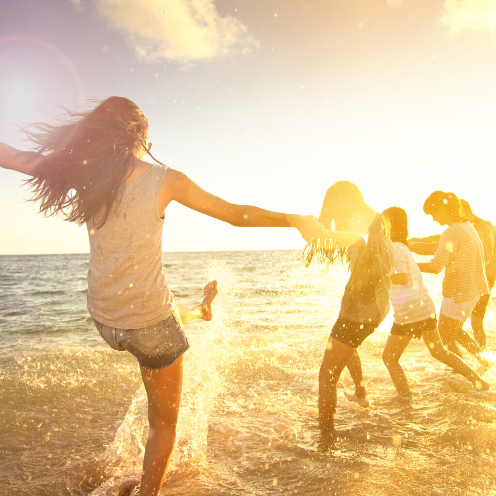
[[334,425],[337,382],[354,350],[354,348],[340,343],[332,337],[327,342],[318,374],[318,423],[320,429],[329,429]]

